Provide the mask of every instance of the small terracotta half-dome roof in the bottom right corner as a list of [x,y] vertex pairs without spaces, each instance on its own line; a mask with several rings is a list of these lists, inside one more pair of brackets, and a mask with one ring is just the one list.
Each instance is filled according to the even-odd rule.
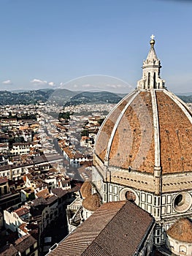
[[192,244],[192,223],[187,218],[177,220],[166,233],[177,241]]

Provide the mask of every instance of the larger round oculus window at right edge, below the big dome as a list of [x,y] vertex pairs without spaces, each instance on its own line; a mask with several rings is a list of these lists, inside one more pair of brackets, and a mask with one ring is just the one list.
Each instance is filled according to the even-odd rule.
[[187,192],[181,192],[174,197],[173,207],[175,211],[183,213],[188,211],[188,209],[191,207],[191,203],[191,195]]

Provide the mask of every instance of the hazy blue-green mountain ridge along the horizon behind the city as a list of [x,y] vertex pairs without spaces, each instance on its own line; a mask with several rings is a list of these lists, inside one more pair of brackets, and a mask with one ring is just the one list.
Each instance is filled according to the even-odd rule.
[[[126,94],[110,91],[70,91],[67,89],[39,89],[33,91],[0,91],[0,105],[36,104],[39,102],[57,103],[58,105],[80,105],[90,103],[118,103]],[[192,102],[191,95],[177,95],[184,102]]]

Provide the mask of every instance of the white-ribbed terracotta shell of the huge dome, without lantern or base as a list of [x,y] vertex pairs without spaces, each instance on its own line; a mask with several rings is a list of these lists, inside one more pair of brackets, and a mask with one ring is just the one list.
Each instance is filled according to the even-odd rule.
[[166,89],[135,90],[110,113],[96,140],[95,154],[107,166],[162,174],[192,170],[192,116]]

